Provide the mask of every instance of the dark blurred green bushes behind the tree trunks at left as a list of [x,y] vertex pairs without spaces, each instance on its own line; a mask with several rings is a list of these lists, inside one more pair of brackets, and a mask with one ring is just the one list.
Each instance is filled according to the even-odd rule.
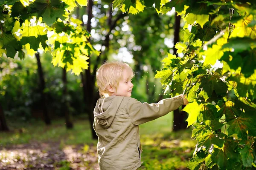
[[[44,70],[47,96],[47,106],[53,112],[51,118],[62,117],[63,81],[62,69],[54,67],[51,63],[50,52],[42,55],[41,63]],[[41,118],[40,86],[36,59],[2,57],[0,60],[0,102],[7,118],[16,121],[28,121]],[[70,102],[70,113],[74,116],[84,112],[81,78],[67,73],[67,100]]]

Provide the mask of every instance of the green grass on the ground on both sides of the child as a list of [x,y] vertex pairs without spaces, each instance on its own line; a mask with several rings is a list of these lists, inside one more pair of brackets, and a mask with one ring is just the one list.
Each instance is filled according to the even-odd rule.
[[[96,148],[97,140],[91,139],[89,122],[79,118],[74,121],[74,129],[67,130],[64,120],[53,121],[46,126],[41,121],[10,124],[12,131],[0,134],[0,145],[26,144],[29,142],[59,142],[60,149],[67,145],[83,144],[83,152],[89,146]],[[192,157],[196,141],[191,140],[191,129],[172,132],[173,114],[140,125],[142,144],[142,166],[138,170],[185,170]],[[95,154],[96,156],[96,154]],[[61,163],[65,163],[62,166]],[[59,166],[70,167],[67,161]]]

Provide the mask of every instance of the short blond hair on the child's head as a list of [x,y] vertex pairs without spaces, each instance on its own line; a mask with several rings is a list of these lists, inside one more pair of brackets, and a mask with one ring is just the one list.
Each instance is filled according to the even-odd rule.
[[108,96],[108,87],[117,89],[124,69],[131,71],[131,78],[134,77],[131,67],[123,62],[106,62],[99,67],[96,73],[96,80],[100,96]]

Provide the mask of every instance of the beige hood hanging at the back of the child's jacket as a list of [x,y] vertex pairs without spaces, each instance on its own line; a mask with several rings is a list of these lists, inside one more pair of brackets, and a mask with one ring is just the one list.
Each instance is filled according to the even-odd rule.
[[93,114],[104,129],[108,129],[112,124],[123,98],[123,96],[109,96],[98,99]]

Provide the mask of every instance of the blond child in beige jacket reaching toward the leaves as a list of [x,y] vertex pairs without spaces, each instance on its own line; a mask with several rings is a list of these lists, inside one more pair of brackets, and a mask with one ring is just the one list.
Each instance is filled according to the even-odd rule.
[[97,71],[100,96],[94,109],[93,128],[99,137],[100,170],[136,170],[141,165],[139,125],[188,104],[185,96],[163,99],[157,104],[131,98],[134,73],[127,64],[105,63]]

